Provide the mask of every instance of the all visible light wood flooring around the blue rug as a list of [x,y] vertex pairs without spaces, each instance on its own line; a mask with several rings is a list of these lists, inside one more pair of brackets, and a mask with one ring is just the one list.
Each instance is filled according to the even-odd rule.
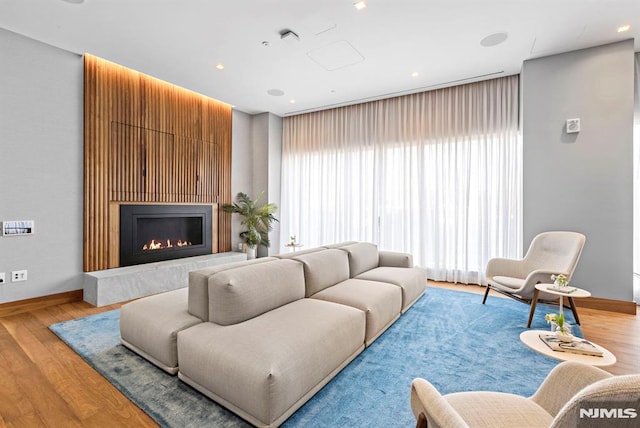
[[[484,292],[478,286],[429,285]],[[480,304],[481,297],[478,299]],[[0,318],[0,427],[157,426],[47,328],[119,306],[66,303]],[[586,308],[578,311],[585,337],[618,358],[608,371],[640,372],[637,315]]]

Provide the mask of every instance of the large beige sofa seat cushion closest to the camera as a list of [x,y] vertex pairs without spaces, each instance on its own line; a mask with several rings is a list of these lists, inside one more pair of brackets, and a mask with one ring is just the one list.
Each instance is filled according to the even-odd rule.
[[252,424],[278,426],[362,351],[364,325],[362,311],[314,299],[203,323],[178,336],[179,376]]

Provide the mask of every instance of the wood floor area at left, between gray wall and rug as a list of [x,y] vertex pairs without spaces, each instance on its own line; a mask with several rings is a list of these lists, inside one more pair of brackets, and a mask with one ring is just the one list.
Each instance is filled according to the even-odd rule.
[[70,302],[0,318],[0,426],[157,426],[48,328],[117,307]]

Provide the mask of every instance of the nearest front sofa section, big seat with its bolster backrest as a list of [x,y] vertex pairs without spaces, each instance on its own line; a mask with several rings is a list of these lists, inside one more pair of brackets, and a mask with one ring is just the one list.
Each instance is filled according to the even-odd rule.
[[304,294],[292,260],[212,275],[212,322],[178,334],[180,379],[256,426],[280,425],[364,349],[362,311]]

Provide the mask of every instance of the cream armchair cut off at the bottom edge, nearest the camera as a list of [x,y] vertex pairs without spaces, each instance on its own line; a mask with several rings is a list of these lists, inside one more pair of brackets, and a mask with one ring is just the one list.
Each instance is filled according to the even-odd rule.
[[[421,428],[599,427],[601,409],[615,409],[616,415],[621,406],[637,412],[639,401],[640,374],[612,376],[570,361],[554,367],[531,397],[488,391],[443,396],[425,379],[411,384],[411,409]],[[639,419],[640,414],[629,418],[628,426],[637,426]]]

